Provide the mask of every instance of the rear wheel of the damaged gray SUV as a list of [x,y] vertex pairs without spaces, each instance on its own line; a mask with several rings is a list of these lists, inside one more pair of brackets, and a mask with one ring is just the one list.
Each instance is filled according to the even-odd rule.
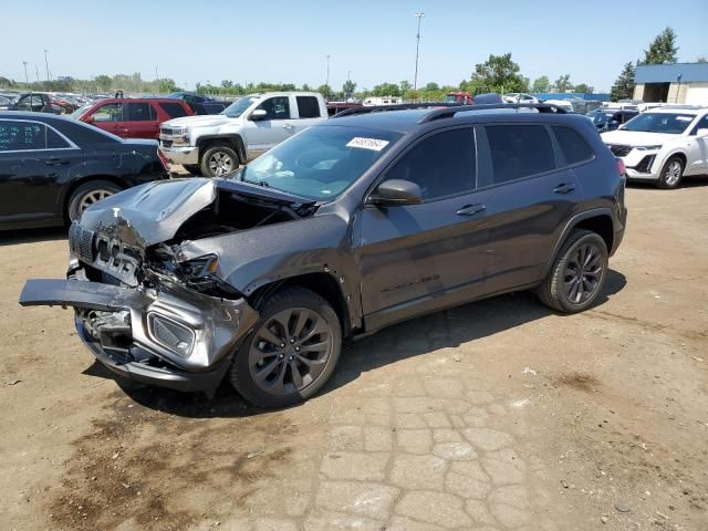
[[573,230],[539,287],[539,299],[563,313],[587,310],[602,292],[607,269],[605,240],[590,230]]

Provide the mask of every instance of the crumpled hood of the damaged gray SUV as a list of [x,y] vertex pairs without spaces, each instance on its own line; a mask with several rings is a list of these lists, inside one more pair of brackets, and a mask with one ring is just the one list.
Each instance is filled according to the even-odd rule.
[[187,219],[216,197],[217,185],[211,179],[157,180],[92,205],[81,215],[80,225],[145,249],[173,238]]

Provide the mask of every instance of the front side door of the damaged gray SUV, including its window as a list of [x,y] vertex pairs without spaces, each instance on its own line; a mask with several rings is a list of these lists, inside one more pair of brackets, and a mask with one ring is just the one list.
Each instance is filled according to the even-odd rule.
[[476,175],[475,129],[467,126],[418,140],[381,179],[416,183],[423,202],[365,205],[358,218],[362,306],[366,314],[388,315],[374,327],[408,312],[410,301],[423,308],[465,284],[478,288],[487,262],[489,192],[475,190]]

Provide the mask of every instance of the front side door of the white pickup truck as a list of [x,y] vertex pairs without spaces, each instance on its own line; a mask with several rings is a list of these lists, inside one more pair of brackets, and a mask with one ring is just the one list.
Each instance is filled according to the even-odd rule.
[[244,125],[244,142],[249,159],[262,155],[294,133],[290,96],[272,96],[253,111],[266,111],[266,116],[252,119],[249,116]]

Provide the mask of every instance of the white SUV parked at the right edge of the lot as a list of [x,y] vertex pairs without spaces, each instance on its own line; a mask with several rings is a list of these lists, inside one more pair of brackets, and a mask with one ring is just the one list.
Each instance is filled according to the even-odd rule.
[[708,107],[655,108],[602,139],[624,162],[627,179],[676,188],[684,176],[708,174]]

